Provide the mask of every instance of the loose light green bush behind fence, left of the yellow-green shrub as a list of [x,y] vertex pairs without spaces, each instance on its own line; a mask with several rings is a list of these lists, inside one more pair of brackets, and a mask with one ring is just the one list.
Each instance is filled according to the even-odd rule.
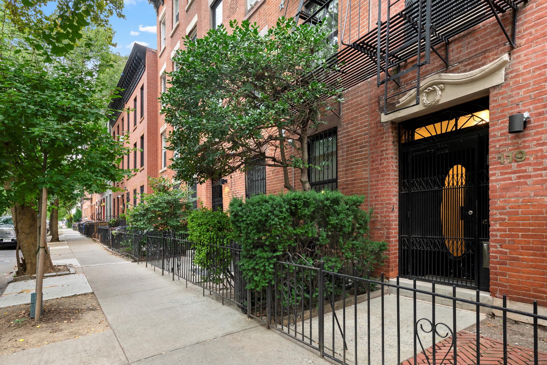
[[164,177],[150,177],[149,183],[152,194],[142,194],[141,201],[127,210],[127,225],[139,230],[183,230],[195,200],[191,190],[173,189]]

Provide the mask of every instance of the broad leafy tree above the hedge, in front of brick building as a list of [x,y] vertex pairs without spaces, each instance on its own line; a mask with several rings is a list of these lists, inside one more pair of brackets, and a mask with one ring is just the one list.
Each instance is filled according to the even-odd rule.
[[[250,165],[300,171],[310,190],[308,136],[340,100],[341,89],[325,84],[336,72],[335,48],[323,27],[296,26],[280,18],[265,36],[248,21],[230,21],[205,38],[185,39],[173,60],[171,87],[161,112],[174,127],[168,149],[178,152],[171,168],[182,181],[220,178]],[[317,166],[321,168],[321,166]]]

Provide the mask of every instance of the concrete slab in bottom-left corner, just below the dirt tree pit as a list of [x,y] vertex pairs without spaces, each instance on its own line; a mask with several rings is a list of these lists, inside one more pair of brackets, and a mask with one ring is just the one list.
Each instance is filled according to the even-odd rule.
[[0,356],[0,364],[124,365],[127,364],[127,360],[114,332],[110,329],[36,349]]

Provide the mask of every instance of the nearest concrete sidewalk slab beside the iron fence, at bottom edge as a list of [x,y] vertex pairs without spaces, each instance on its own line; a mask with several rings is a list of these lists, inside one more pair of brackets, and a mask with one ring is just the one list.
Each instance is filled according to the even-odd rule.
[[[206,357],[204,356],[206,354]],[[255,327],[211,341],[133,362],[133,365],[310,365],[330,364],[313,352],[291,344],[273,331]]]

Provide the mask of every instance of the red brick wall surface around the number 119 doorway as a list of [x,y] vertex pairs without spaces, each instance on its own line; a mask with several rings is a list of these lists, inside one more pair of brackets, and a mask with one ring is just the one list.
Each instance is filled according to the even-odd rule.
[[[260,29],[271,27],[285,11],[289,16],[295,13],[298,2],[289,3],[289,9],[280,10],[279,2],[262,0],[248,12],[245,0],[224,0],[223,22],[228,24],[230,19],[249,19],[257,22]],[[353,29],[353,33],[342,33],[344,17],[341,15],[340,38],[346,42],[350,37],[354,40],[374,28],[377,21],[375,4],[371,2],[370,13],[366,1],[362,5],[363,13],[352,12],[348,27]],[[403,4],[400,2],[397,6]],[[162,69],[167,72],[172,70],[172,51],[184,47],[182,38],[191,30],[195,16],[198,37],[203,37],[211,26],[210,1],[193,0],[185,10],[187,5],[181,2],[178,26],[171,21],[171,1],[166,1],[158,9],[158,44],[161,34],[159,17],[164,11],[167,19],[166,48],[158,53],[158,90]],[[385,10],[382,10],[383,14]],[[341,8],[340,14],[343,11]],[[432,54],[430,65],[422,68],[423,77],[439,72],[461,73],[479,68],[503,54],[510,54],[505,82],[490,90],[490,286],[493,296],[508,294],[510,299],[524,302],[537,299],[542,305],[547,305],[546,15],[547,3],[529,1],[518,13],[515,48],[510,47],[497,22],[491,19],[451,39],[449,67]],[[510,30],[511,12],[502,15],[501,19]],[[412,60],[408,64],[412,65]],[[408,86],[411,78],[411,74],[403,77],[403,86]],[[366,196],[363,208],[373,209],[371,236],[388,242],[388,258],[381,270],[388,276],[394,276],[398,273],[398,125],[381,123],[379,101],[382,95],[383,89],[377,87],[376,78],[345,92],[346,101],[342,105],[337,129],[338,186],[342,193]],[[531,113],[531,124],[525,132],[509,135],[509,115],[524,111]],[[163,117],[159,115],[157,130],[164,124]],[[165,126],[167,132],[170,128]],[[156,143],[160,151],[159,132]],[[499,164],[497,154],[517,149],[526,150],[525,161]],[[167,154],[170,159],[172,153]],[[157,160],[159,171],[159,153]],[[170,169],[159,173],[168,178],[174,175]],[[292,180],[292,171],[289,173]],[[243,173],[226,177],[228,184],[223,187],[225,207],[231,196],[245,194],[244,178]],[[298,179],[299,173],[295,171],[295,187],[299,187]],[[266,167],[266,189],[267,193],[283,190],[281,170]],[[210,181],[198,186],[197,194],[205,206],[211,206]]]

